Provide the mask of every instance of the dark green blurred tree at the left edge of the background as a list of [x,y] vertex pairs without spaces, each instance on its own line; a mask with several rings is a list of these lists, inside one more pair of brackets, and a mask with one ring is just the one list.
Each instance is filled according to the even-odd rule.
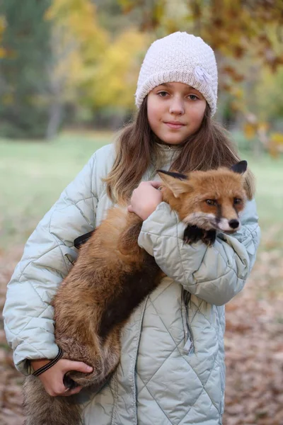
[[45,135],[48,107],[42,96],[48,91],[50,23],[44,15],[50,0],[3,0],[0,15],[2,52],[0,63],[0,134],[35,138]]

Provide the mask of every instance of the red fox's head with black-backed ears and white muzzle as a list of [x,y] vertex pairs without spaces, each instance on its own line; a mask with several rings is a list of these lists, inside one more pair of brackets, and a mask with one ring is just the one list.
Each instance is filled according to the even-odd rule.
[[187,225],[236,232],[241,227],[239,213],[247,200],[244,186],[247,165],[241,161],[230,169],[221,167],[187,174],[158,170],[163,180],[163,200]]

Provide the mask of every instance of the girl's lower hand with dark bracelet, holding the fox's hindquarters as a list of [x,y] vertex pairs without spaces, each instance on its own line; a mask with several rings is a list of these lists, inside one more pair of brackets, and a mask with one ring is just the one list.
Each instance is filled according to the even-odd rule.
[[[33,366],[33,370],[37,370],[44,366],[47,363],[50,363],[48,360],[35,360],[30,362]],[[70,370],[77,370],[78,372],[91,373],[93,368],[86,365],[81,361],[71,361],[66,358],[60,358],[57,363],[52,366],[52,368],[46,370],[41,375],[38,376],[38,379],[41,380],[45,391],[47,394],[55,397],[57,395],[73,395],[81,391],[82,387],[76,387],[73,390],[69,390],[63,384],[63,378],[65,373]]]

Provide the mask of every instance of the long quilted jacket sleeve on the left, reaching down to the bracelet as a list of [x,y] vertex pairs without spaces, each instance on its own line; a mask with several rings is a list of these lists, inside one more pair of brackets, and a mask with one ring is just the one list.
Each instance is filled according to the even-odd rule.
[[96,225],[95,164],[96,154],[37,225],[8,283],[6,338],[22,373],[30,373],[27,358],[57,356],[50,301],[76,259],[74,239]]

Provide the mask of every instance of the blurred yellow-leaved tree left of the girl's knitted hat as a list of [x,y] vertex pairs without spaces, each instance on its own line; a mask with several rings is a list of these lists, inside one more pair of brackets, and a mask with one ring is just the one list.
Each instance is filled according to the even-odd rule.
[[[117,7],[108,1],[103,11],[111,14]],[[90,120],[103,114],[111,120],[123,119],[134,106],[141,57],[148,45],[146,35],[134,28],[123,28],[120,33],[116,28],[110,35],[98,25],[96,6],[90,0],[53,0],[46,17],[54,23],[53,113],[48,137],[57,132],[67,103]]]

